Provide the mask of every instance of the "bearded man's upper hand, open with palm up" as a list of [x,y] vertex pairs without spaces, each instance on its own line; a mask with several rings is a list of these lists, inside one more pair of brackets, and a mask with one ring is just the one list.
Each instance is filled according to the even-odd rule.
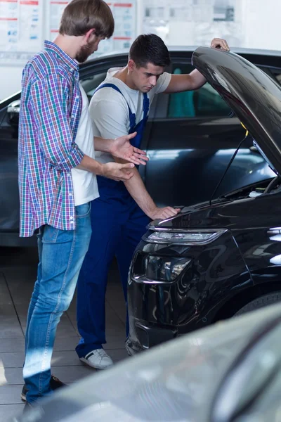
[[136,132],[130,135],[124,135],[116,138],[114,141],[112,141],[110,154],[116,158],[122,158],[122,160],[133,162],[133,164],[136,165],[146,165],[148,157],[146,156],[145,151],[132,146],[130,143],[130,139],[134,138],[135,136]]

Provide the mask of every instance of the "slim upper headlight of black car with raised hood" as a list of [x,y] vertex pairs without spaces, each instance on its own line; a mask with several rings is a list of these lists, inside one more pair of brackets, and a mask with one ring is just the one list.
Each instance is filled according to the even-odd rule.
[[188,231],[155,231],[145,241],[150,243],[177,243],[179,245],[204,245],[210,243],[226,232],[218,230],[188,230]]

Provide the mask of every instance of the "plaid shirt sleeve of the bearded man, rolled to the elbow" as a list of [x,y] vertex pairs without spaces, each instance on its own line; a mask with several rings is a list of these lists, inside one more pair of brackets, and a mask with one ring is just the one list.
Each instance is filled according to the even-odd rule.
[[58,170],[70,171],[84,153],[73,141],[65,84],[60,75],[37,80],[30,90],[28,107],[37,126],[37,141],[46,159]]

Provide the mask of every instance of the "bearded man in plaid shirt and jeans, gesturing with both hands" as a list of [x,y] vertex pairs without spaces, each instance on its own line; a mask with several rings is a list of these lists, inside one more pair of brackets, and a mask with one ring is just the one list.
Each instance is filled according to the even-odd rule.
[[[20,236],[39,229],[37,281],[27,316],[25,386],[27,405],[63,385],[51,376],[51,355],[60,316],[70,305],[91,238],[91,200],[98,198],[96,174],[129,180],[145,153],[131,146],[135,134],[93,138],[88,100],[79,84],[78,63],[112,36],[114,20],[103,0],[72,0],[58,37],[46,41],[22,74],[18,167]],[[127,164],[100,164],[96,149]]]

